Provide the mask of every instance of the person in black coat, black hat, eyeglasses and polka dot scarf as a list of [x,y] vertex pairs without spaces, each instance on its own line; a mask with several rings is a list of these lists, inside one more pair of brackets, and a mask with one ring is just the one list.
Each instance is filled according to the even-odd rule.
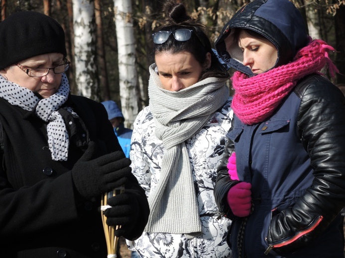
[[0,257],[105,258],[99,211],[134,240],[147,198],[101,103],[70,94],[65,35],[54,19],[19,11],[0,23]]

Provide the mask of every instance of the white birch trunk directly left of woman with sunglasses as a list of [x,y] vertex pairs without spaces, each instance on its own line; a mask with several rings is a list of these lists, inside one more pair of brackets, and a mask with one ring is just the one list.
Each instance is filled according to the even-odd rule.
[[114,12],[121,111],[125,119],[125,127],[132,128],[133,122],[139,110],[141,110],[141,104],[135,67],[135,40],[131,17],[131,0],[114,0]]

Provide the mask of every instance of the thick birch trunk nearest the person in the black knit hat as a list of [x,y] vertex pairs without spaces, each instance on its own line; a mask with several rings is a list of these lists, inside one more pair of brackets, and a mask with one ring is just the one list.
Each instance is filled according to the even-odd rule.
[[96,69],[95,6],[93,0],[72,0],[75,80],[78,94],[99,101]]

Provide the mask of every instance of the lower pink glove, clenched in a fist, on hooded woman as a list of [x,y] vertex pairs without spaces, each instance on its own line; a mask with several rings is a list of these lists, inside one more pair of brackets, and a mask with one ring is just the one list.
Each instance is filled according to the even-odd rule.
[[246,217],[251,209],[251,184],[240,182],[230,188],[228,192],[228,203],[233,215]]

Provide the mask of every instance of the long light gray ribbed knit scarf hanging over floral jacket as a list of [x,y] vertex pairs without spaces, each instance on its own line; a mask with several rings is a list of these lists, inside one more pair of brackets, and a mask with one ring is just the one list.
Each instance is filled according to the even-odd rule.
[[149,107],[166,152],[158,185],[148,197],[145,231],[192,236],[201,233],[201,221],[185,141],[224,106],[229,88],[227,79],[210,77],[178,92],[164,90],[155,67],[149,68]]

